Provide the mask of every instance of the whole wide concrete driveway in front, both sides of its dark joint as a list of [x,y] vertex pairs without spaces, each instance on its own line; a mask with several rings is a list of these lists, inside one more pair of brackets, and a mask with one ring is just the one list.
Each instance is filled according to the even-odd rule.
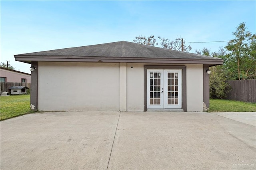
[[255,138],[211,113],[36,113],[1,122],[0,168],[256,169]]

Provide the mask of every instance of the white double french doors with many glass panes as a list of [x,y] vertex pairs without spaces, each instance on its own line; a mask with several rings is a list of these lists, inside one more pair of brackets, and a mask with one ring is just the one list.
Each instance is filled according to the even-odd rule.
[[147,108],[182,108],[182,70],[147,70]]

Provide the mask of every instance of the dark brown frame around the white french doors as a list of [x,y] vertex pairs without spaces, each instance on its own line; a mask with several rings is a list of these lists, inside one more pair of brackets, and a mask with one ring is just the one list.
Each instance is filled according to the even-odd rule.
[[145,65],[144,66],[144,111],[147,111],[147,70],[148,69],[182,69],[182,109],[187,111],[187,77],[185,65]]

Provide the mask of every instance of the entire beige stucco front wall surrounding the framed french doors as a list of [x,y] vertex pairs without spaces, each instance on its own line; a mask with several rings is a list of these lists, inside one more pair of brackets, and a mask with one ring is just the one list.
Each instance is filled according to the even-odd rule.
[[[144,65],[39,62],[38,109],[144,111]],[[187,111],[203,111],[203,65],[186,66]]]

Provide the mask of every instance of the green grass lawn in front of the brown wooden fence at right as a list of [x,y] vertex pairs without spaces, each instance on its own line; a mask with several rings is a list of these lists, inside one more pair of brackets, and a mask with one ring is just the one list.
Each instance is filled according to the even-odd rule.
[[209,112],[256,112],[256,103],[210,99]]

